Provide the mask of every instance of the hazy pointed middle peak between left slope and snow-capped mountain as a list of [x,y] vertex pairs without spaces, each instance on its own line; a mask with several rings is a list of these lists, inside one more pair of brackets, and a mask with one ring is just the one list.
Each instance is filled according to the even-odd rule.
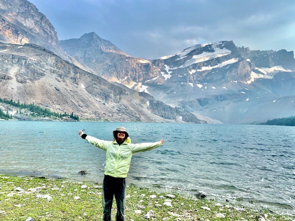
[[158,73],[158,67],[149,60],[127,55],[94,32],[78,39],[62,40],[60,44],[90,72],[130,88]]

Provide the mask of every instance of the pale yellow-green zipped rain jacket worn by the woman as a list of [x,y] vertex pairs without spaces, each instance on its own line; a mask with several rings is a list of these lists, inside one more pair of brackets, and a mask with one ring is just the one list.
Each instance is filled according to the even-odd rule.
[[88,135],[85,140],[106,151],[104,174],[122,178],[127,177],[133,154],[155,149],[162,144],[161,141],[131,144],[129,137],[121,145],[117,141],[103,141]]

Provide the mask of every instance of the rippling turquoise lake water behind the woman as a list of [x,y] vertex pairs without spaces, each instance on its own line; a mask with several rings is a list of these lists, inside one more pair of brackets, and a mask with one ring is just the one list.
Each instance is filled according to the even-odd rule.
[[[0,121],[0,173],[102,182],[105,151],[81,139],[78,130],[111,140],[119,126],[127,128],[132,143],[165,140],[133,156],[127,182],[202,190],[295,214],[295,127]],[[77,174],[81,170],[88,174]]]

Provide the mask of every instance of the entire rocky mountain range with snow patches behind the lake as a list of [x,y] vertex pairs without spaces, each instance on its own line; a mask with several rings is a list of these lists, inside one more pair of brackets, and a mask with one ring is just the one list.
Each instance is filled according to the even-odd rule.
[[0,18],[1,98],[108,121],[234,124],[294,115],[293,51],[220,41],[148,60],[94,32],[59,41],[25,0],[0,0]]

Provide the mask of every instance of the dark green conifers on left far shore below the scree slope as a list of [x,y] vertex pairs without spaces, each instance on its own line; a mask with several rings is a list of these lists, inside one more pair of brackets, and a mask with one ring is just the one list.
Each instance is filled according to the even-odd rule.
[[[15,102],[12,99],[7,100],[6,98],[0,98],[0,103],[6,103],[6,104],[12,105],[14,107],[20,108],[20,109],[28,109],[28,110],[30,110],[32,112],[31,113],[32,116],[41,116],[41,117],[54,116],[54,117],[57,117],[57,118],[62,118],[64,116],[69,116],[70,118],[72,118],[74,120],[77,120],[77,121],[79,120],[79,116],[74,114],[73,112],[71,114],[69,114],[67,112],[64,112],[64,113],[54,112],[54,111],[49,110],[48,108],[42,108],[39,105],[35,105],[34,102],[30,103],[30,104],[27,104],[26,102],[20,103],[19,100],[17,102]],[[8,114],[8,111],[6,113]],[[22,110],[20,110],[19,112],[17,110],[17,113],[22,114]],[[0,115],[0,118],[2,118],[1,115]],[[12,119],[12,116],[9,119]]]

